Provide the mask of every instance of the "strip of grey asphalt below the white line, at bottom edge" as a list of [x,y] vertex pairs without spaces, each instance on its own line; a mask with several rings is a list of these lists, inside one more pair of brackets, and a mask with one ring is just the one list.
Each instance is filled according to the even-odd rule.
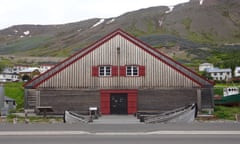
[[239,135],[0,136],[2,144],[239,144]]

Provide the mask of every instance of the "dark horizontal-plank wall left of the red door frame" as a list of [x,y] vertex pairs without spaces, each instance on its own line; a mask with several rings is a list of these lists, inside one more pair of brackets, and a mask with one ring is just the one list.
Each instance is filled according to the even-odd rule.
[[89,107],[100,107],[98,90],[40,90],[40,105],[52,106],[53,113],[63,114],[65,110],[87,113]]

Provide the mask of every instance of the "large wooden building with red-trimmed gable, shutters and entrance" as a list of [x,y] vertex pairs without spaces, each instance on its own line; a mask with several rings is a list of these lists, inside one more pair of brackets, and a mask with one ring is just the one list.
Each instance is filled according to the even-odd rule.
[[213,107],[213,84],[118,29],[29,81],[25,108],[102,114]]

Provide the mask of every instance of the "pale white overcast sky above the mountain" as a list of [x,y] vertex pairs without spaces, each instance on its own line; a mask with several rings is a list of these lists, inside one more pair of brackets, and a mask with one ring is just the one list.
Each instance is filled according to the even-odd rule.
[[1,0],[0,29],[18,24],[63,24],[110,18],[151,6],[189,0]]

